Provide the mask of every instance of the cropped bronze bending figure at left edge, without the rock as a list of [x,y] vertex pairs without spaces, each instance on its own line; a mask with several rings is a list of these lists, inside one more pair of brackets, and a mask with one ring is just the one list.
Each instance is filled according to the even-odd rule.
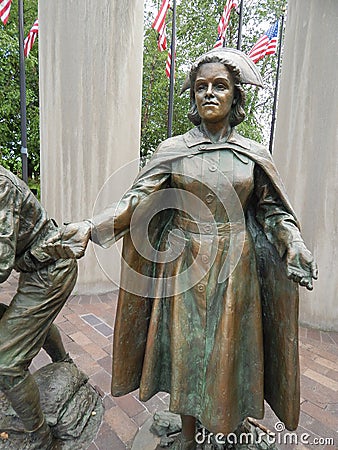
[[40,247],[57,230],[28,187],[0,166],[0,282],[20,272],[15,296],[0,307],[0,389],[39,450],[57,444],[28,367],[42,347],[53,362],[71,361],[53,321],[75,285],[77,263]]

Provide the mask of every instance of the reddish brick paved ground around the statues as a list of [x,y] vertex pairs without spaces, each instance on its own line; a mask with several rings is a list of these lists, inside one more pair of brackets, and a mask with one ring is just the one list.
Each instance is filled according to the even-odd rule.
[[[12,275],[0,286],[0,302],[10,302],[16,285],[17,275]],[[145,421],[168,405],[168,394],[158,394],[146,403],[139,402],[137,392],[120,398],[109,395],[115,310],[116,293],[73,296],[56,320],[67,351],[104,398],[104,421],[89,450],[130,449]],[[49,362],[42,350],[32,362],[31,370]],[[338,333],[301,327],[300,363],[299,442],[290,443],[290,438],[280,433],[277,434],[279,447],[281,450],[338,449]],[[260,422],[274,430],[278,419],[267,407]],[[327,439],[334,439],[335,444]]]

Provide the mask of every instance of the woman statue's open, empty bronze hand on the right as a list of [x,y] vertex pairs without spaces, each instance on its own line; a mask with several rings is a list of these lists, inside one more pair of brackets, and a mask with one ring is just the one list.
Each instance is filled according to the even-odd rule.
[[287,276],[291,280],[313,289],[313,279],[318,278],[317,264],[304,242],[293,242],[286,253]]

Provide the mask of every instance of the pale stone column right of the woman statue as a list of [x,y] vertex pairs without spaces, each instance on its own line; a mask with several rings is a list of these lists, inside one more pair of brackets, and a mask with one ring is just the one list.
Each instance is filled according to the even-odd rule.
[[301,321],[338,330],[338,2],[289,0],[274,159],[319,266]]

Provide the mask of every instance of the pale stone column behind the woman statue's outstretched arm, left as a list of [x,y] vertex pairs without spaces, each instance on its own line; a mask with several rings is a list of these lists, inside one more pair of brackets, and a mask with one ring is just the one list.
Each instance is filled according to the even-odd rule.
[[[110,175],[138,158],[142,39],[142,0],[39,2],[42,203],[60,223],[90,217]],[[98,209],[136,173],[115,175]],[[118,255],[99,259],[118,273]],[[113,287],[90,248],[76,291]]]

